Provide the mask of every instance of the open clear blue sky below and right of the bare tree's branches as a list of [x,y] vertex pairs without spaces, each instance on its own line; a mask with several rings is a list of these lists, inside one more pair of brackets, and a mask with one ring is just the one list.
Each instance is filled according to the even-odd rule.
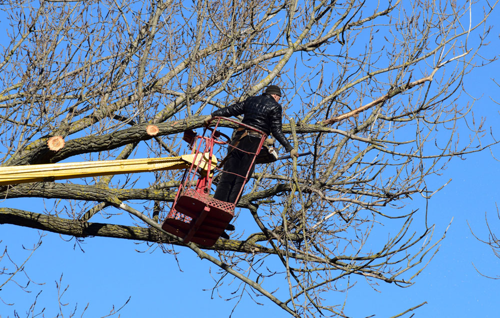
[[[490,36],[491,43],[482,52],[483,55],[498,55],[499,35],[500,27],[495,25]],[[475,69],[464,80],[472,96],[482,96],[476,102],[474,115],[486,117],[486,126],[492,126],[498,138],[499,107],[488,96],[500,101],[500,88],[492,81],[496,78],[500,82],[500,76],[497,75],[499,65],[494,63]],[[500,145],[494,146],[492,153],[500,158]],[[451,220],[452,223],[439,252],[414,280],[415,284],[405,289],[383,284],[375,291],[359,280],[357,286],[347,294],[345,313],[352,317],[371,314],[389,317],[426,301],[426,305],[415,311],[415,317],[500,316],[500,302],[496,293],[500,289],[500,280],[482,277],[472,265],[486,275],[495,276],[500,275],[499,260],[487,246],[471,235],[467,225],[468,222],[477,235],[486,239],[484,217],[487,213],[490,226],[497,229],[500,236],[500,221],[496,217],[495,206],[496,202],[500,203],[497,186],[500,163],[492,158],[489,151],[468,155],[466,160],[455,158],[442,176],[435,177],[428,184],[431,188],[438,188],[448,179],[452,181],[428,202],[428,223],[436,224],[435,238],[442,235]],[[423,211],[426,206],[423,200],[414,200],[409,208]],[[244,216],[240,218],[238,223],[242,225]],[[97,219],[92,221],[98,222]],[[35,313],[46,308],[43,312],[45,317],[55,317],[59,310],[55,282],[61,275],[63,288],[69,285],[62,298],[63,302],[68,303],[62,309],[64,317],[69,317],[76,303],[76,317],[80,316],[87,303],[88,309],[83,317],[105,316],[112,305],[118,308],[128,297],[131,297],[130,301],[120,316],[123,318],[228,317],[238,301],[225,301],[219,298],[216,291],[211,294],[215,282],[209,271],[215,271],[216,268],[207,261],[197,259],[190,251],[176,248],[182,253],[175,260],[173,256],[162,254],[159,250],[138,253],[135,249],[144,251],[145,247],[133,241],[87,238],[82,244],[82,252],[78,247],[73,249],[74,240],[65,242],[53,233],[43,235],[43,244],[25,268],[34,282],[45,285],[30,285],[27,289],[31,292],[29,294],[12,286],[3,288],[0,296],[5,302],[15,302],[15,306],[0,303],[0,317],[13,317],[14,310],[20,317],[26,316],[24,311],[40,290],[42,293],[38,297]],[[27,255],[21,247],[32,246],[38,236],[36,230],[1,225],[0,248],[7,245],[12,258],[21,262],[23,256]],[[236,290],[238,284],[233,282],[229,287],[223,287],[224,297]],[[340,304],[345,295],[337,293],[331,297]],[[256,305],[245,294],[234,310],[233,317],[288,317],[266,299],[258,298],[257,301],[264,306]]]

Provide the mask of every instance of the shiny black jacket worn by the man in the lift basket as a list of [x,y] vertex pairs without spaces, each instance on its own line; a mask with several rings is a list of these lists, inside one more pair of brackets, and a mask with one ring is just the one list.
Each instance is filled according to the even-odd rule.
[[248,97],[242,102],[234,103],[228,107],[218,109],[211,113],[212,116],[238,116],[243,115],[243,124],[262,130],[267,135],[272,133],[274,138],[289,152],[290,145],[281,131],[281,105],[270,95]]

